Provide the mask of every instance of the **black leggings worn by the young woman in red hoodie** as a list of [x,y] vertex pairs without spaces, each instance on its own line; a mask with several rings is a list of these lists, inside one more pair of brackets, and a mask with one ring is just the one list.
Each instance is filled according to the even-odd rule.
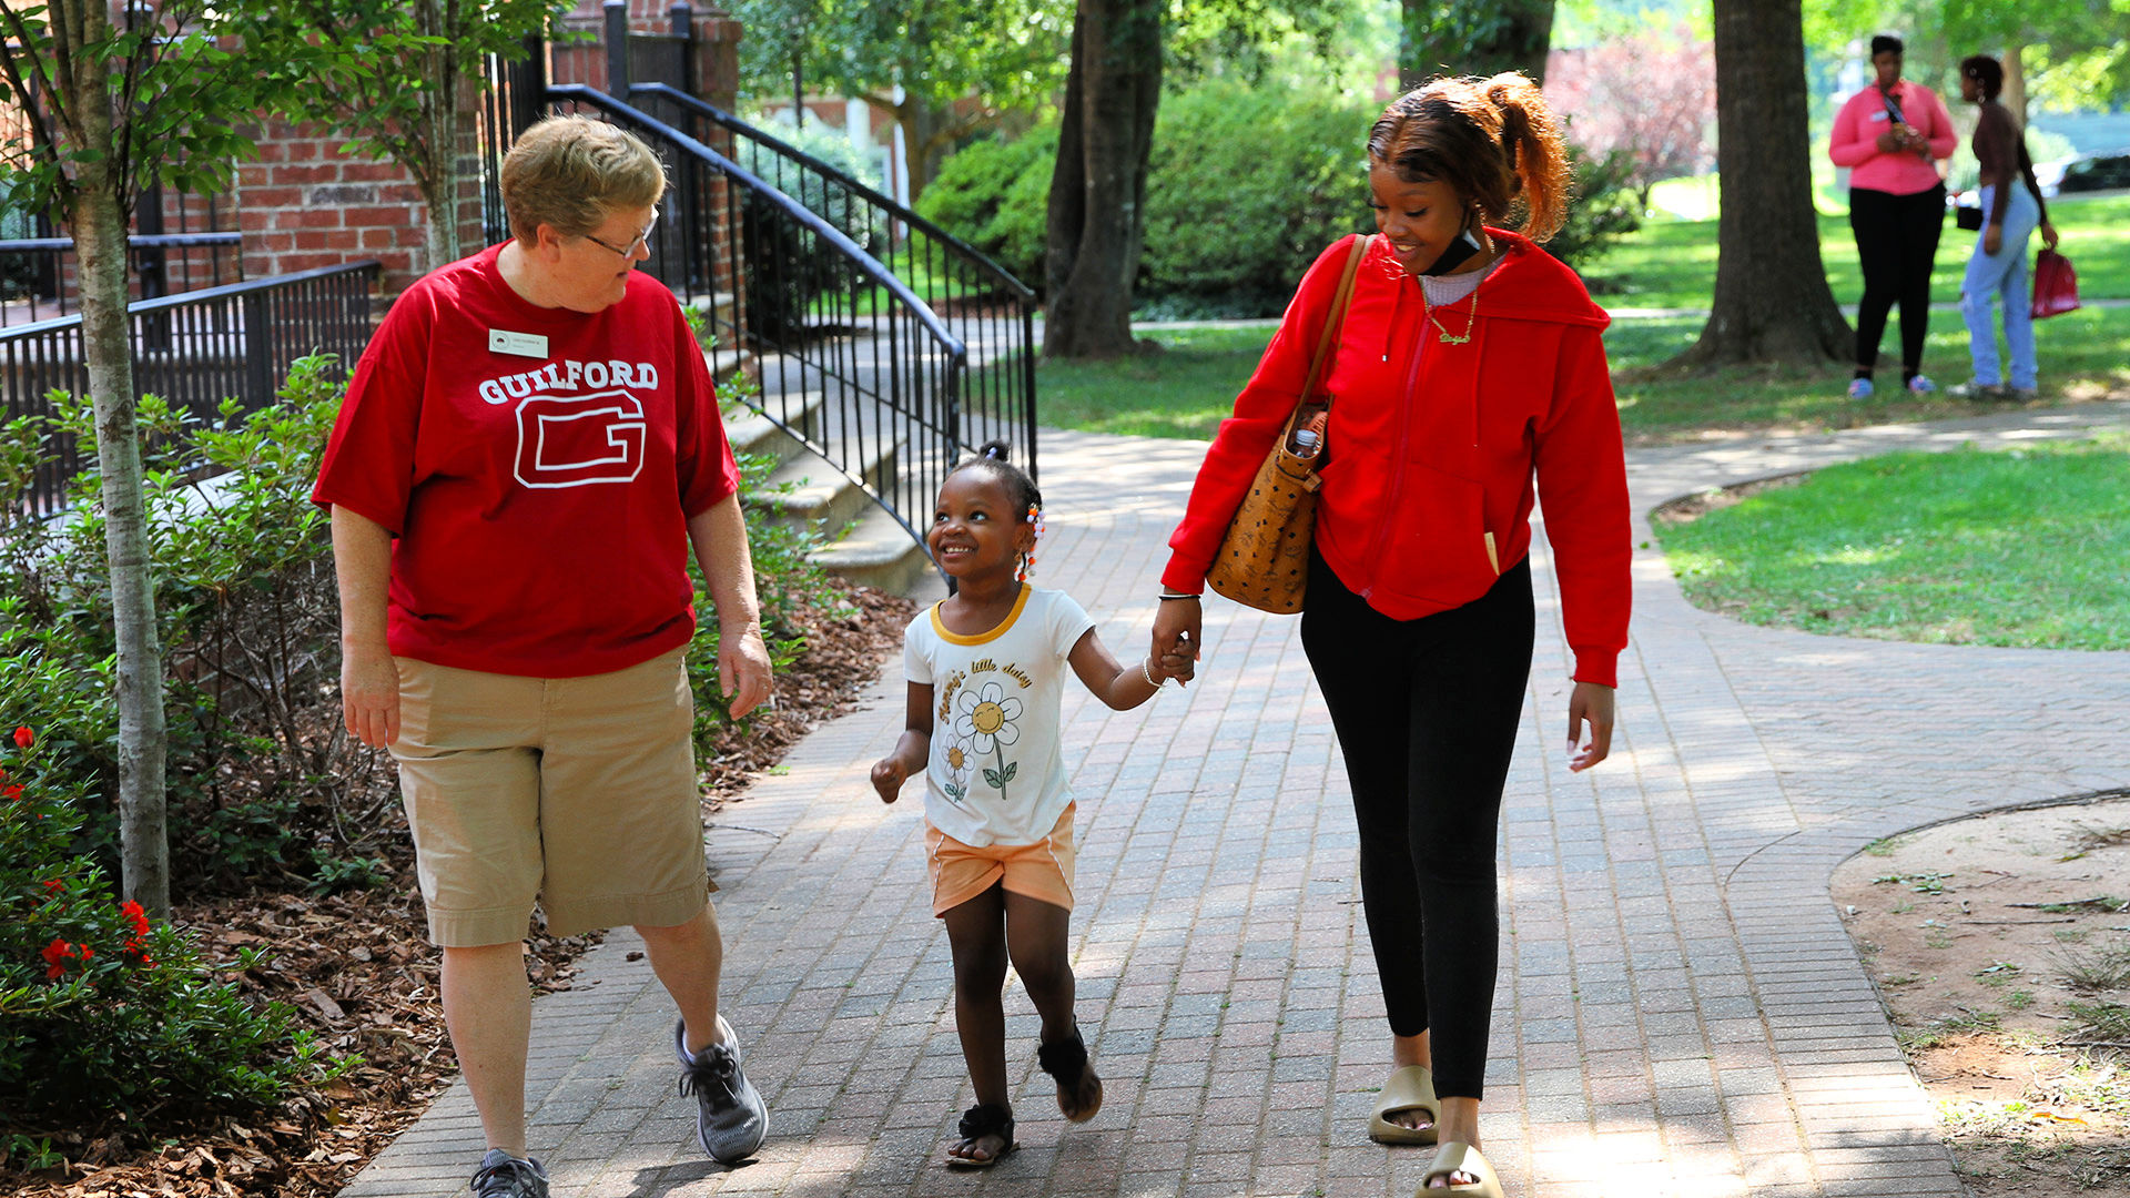
[[1436,1094],[1482,1098],[1497,970],[1493,844],[1531,676],[1531,563],[1393,620],[1310,554],[1301,648],[1361,825],[1361,902],[1391,1032],[1433,1030]]

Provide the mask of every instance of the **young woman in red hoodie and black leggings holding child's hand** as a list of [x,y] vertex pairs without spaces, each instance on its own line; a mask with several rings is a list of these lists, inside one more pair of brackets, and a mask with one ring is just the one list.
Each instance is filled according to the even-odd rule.
[[[1395,1072],[1370,1134],[1440,1143],[1425,1187],[1500,1194],[1476,1145],[1500,936],[1495,825],[1531,669],[1534,475],[1574,650],[1570,770],[1608,752],[1627,644],[1608,318],[1534,243],[1566,215],[1568,153],[1529,79],[1410,92],[1370,132],[1367,171],[1380,237],[1327,367],[1301,646],[1353,782],[1393,1036]],[[1489,224],[1510,209],[1527,213],[1523,234]],[[1206,454],[1169,537],[1154,652],[1199,644],[1206,569],[1295,409],[1350,247],[1331,245],[1301,279]]]

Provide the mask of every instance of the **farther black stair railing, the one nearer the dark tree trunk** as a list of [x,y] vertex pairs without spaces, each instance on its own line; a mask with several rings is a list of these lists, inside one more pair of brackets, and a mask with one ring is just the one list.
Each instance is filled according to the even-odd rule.
[[[822,215],[901,277],[969,345],[963,416],[1014,441],[1035,471],[1035,292],[982,249],[846,171],[667,83],[628,87],[630,104],[724,153]],[[861,294],[861,315],[873,296]]]

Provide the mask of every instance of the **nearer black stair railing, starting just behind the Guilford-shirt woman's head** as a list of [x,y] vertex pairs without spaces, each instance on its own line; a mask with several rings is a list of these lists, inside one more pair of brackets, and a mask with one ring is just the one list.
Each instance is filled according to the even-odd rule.
[[[752,407],[922,541],[965,446],[1018,433],[963,405],[963,339],[829,217],[724,153],[592,87],[547,87],[547,100],[628,128],[665,158],[671,188],[643,269],[701,313],[720,377],[756,379]],[[897,471],[869,480],[888,456]]]

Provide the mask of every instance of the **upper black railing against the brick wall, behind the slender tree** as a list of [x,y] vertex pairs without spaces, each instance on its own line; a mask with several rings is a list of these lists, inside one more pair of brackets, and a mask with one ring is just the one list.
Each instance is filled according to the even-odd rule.
[[[34,324],[81,307],[72,237],[0,241],[0,328]],[[243,237],[170,232],[126,239],[126,279],[138,298],[160,298],[243,281]]]

